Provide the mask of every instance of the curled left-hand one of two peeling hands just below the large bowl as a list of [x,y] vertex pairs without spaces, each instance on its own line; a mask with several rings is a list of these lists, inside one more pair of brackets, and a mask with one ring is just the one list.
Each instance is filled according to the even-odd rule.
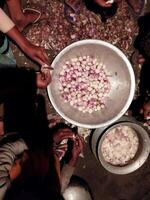
[[61,128],[53,135],[54,144],[59,144],[64,139],[74,140],[74,133],[69,128]]

